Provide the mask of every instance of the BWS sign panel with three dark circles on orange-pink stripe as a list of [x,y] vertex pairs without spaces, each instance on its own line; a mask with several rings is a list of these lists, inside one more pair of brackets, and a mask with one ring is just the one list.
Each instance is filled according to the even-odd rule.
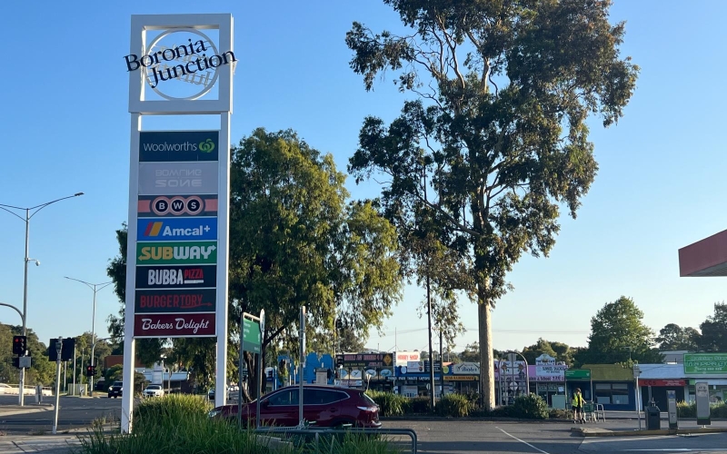
[[216,195],[140,195],[139,217],[216,216]]

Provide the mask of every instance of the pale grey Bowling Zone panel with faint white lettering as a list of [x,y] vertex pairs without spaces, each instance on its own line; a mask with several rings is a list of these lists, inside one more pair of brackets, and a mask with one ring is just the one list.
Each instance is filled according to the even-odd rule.
[[217,163],[139,163],[139,195],[217,193]]

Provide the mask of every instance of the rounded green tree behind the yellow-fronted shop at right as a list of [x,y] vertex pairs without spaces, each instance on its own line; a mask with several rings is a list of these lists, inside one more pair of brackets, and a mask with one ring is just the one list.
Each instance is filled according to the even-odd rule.
[[642,319],[643,312],[631,298],[622,296],[606,303],[591,319],[588,350],[580,360],[592,364],[615,364],[630,359],[645,364],[662,362],[662,355],[653,348],[653,331]]

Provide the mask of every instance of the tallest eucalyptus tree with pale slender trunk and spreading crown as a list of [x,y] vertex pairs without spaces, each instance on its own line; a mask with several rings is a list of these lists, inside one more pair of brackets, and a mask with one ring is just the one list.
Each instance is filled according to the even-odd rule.
[[[386,182],[383,211],[399,232],[426,222],[436,243],[469,258],[462,290],[484,308],[480,362],[493,367],[490,310],[506,274],[523,253],[552,250],[561,205],[575,217],[598,167],[589,114],[617,122],[638,67],[620,54],[611,2],[384,3],[407,35],[355,22],[350,66],[366,90],[391,71],[418,99],[390,124],[364,119],[349,171]],[[490,409],[494,383],[481,386]]]

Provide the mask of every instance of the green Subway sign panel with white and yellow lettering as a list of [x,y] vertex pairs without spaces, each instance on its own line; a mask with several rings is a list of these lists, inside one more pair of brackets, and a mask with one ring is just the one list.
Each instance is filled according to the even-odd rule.
[[217,242],[138,242],[137,265],[217,263]]

